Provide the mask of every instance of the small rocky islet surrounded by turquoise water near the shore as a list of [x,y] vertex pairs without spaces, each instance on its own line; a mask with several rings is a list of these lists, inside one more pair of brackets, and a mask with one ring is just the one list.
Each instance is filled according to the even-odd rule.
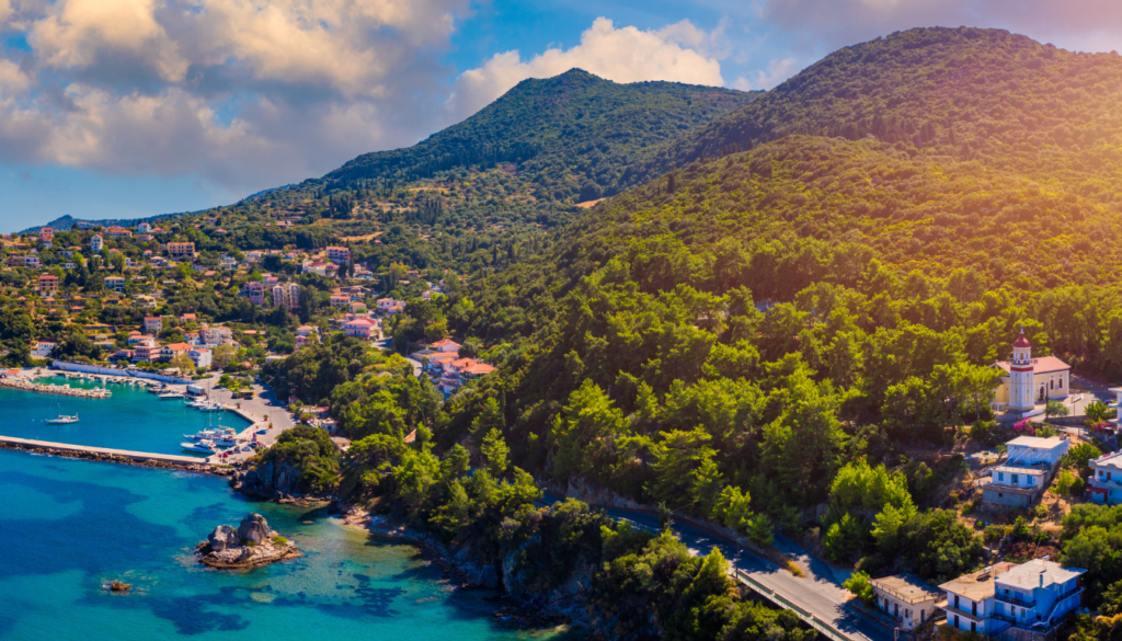
[[249,569],[301,555],[296,543],[269,530],[265,516],[246,514],[234,530],[219,525],[195,548],[199,561],[212,568]]

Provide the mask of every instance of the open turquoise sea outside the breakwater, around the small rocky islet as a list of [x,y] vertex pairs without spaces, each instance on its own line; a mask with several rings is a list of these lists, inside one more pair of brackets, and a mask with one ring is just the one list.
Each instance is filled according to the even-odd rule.
[[[452,590],[414,548],[322,512],[250,503],[221,478],[0,450],[0,497],[3,641],[571,635],[505,629],[484,601],[494,593]],[[240,574],[191,558],[217,524],[250,511],[305,556]],[[104,590],[112,579],[132,593]]]

